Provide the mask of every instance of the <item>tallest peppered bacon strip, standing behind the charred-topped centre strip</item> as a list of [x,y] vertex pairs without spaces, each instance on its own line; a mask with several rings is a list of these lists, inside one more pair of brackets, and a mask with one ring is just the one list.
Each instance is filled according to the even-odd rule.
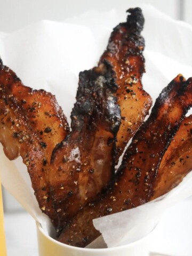
[[145,72],[145,41],[141,36],[143,14],[140,8],[129,9],[127,12],[127,21],[114,28],[107,50],[99,62],[110,63],[118,85],[116,95],[122,119],[117,133],[116,162],[127,142],[142,124],[152,104],[151,97],[143,90],[141,82]]

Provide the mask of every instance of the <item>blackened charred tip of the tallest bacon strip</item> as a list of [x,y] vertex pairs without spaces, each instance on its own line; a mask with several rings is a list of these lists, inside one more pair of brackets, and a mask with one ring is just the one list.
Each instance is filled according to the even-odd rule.
[[133,29],[135,33],[140,34],[145,22],[141,8],[130,8],[126,12],[129,13],[127,15],[127,26]]

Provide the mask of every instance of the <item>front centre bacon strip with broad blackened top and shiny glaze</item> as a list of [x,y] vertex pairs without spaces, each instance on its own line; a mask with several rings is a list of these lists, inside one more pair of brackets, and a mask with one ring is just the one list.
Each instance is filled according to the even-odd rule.
[[114,144],[121,121],[114,73],[100,65],[79,74],[71,133],[54,149],[51,196],[60,225],[95,199],[114,174]]

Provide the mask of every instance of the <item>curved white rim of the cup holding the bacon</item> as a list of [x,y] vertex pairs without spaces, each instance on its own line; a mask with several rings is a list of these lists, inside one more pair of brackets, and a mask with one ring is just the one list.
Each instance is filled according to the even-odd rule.
[[49,239],[51,242],[53,242],[55,244],[58,244],[58,246],[62,246],[63,248],[73,249],[73,250],[76,250],[78,252],[80,252],[80,251],[81,252],[84,252],[84,251],[93,252],[93,250],[96,250],[96,251],[99,251],[99,252],[106,252],[106,251],[110,252],[110,251],[116,251],[118,249],[124,249],[124,248],[127,248],[127,247],[132,247],[135,244],[142,243],[145,239],[148,238],[148,236],[151,234],[151,232],[153,232],[153,230],[155,229],[156,226],[146,236],[138,239],[137,241],[134,241],[132,243],[125,244],[125,245],[119,245],[119,246],[107,247],[107,248],[82,248],[82,247],[76,247],[76,246],[64,244],[64,243],[61,243],[61,242],[57,241],[56,239],[52,238],[51,236],[47,235],[45,233],[45,231],[43,230],[43,228],[41,226],[41,223],[39,223],[38,221],[36,221],[36,227],[42,233],[42,235],[44,235],[47,239]]

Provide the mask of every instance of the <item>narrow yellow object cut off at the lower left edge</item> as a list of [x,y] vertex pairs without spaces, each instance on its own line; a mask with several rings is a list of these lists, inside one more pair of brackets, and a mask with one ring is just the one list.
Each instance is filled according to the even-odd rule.
[[5,230],[3,219],[3,199],[1,189],[1,177],[0,177],[0,255],[6,256],[6,244],[5,244]]

